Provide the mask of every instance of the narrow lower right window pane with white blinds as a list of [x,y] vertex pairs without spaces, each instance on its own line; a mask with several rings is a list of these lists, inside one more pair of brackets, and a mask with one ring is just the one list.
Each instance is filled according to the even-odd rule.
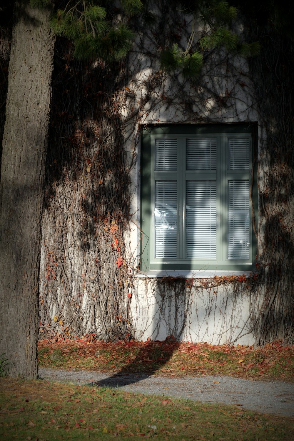
[[249,259],[249,181],[228,182],[228,258]]

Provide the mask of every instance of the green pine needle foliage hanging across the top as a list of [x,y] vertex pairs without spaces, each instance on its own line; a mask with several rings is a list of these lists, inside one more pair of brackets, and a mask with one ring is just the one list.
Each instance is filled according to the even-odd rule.
[[[53,5],[52,0],[29,0],[29,3],[32,7]],[[73,41],[78,60],[117,61],[128,53],[134,33],[126,24],[114,24],[117,12],[128,17],[140,13],[145,26],[152,26],[156,19],[143,0],[120,0],[121,9],[115,9],[110,0],[69,0],[55,5],[59,9],[53,9],[51,28],[56,35]],[[161,68],[165,71],[182,73],[193,80],[201,71],[206,51],[224,48],[242,56],[254,56],[260,51],[258,42],[242,43],[232,31],[237,9],[226,0],[171,0],[170,8],[192,17],[193,22],[186,48],[173,44],[162,51]]]

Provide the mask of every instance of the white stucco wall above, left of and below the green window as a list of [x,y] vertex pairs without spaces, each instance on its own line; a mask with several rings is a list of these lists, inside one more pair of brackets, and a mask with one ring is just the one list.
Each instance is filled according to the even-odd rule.
[[[241,28],[240,28],[241,29]],[[156,53],[154,39],[145,39],[145,49]],[[152,60],[152,61],[151,61]],[[191,84],[181,75],[170,77],[159,70],[158,58],[144,55],[140,38],[136,41],[129,58],[131,80],[126,84],[126,101],[121,108],[125,118],[125,138],[132,168],[132,222],[130,223],[129,256],[135,276],[140,262],[140,127],[144,124],[201,124],[201,123],[250,123],[259,122],[252,99],[251,84],[246,59],[235,56],[227,58],[215,53],[208,58],[198,82]],[[154,80],[154,81],[153,81]],[[151,88],[150,84],[156,86]],[[148,97],[148,99],[146,99]],[[216,99],[216,97],[221,98]],[[187,99],[189,108],[187,110]],[[142,105],[142,103],[144,103]],[[134,112],[136,119],[132,117]],[[260,131],[259,138],[262,139]],[[225,272],[217,272],[225,275]],[[244,271],[241,272],[243,274]],[[213,277],[216,273],[203,271],[195,277]],[[166,274],[160,274],[157,281]],[[173,275],[177,275],[174,273]],[[143,274],[141,274],[143,276]],[[147,275],[150,277],[150,274]],[[192,290],[176,301],[176,294],[169,302],[162,301],[155,279],[133,278],[131,314],[134,335],[138,339],[163,340],[170,334],[181,340],[206,341],[211,344],[253,344],[250,330],[250,296],[234,294],[230,289]],[[189,277],[189,275],[185,275]],[[155,288],[154,288],[155,281]],[[153,285],[153,287],[152,287]],[[177,303],[177,305],[176,305]],[[189,304],[187,304],[189,303]],[[176,323],[175,323],[176,317]],[[183,329],[181,329],[181,327]]]

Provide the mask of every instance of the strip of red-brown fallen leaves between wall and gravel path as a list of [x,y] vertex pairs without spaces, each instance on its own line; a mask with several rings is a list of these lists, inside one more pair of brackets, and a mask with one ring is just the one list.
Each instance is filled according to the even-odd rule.
[[281,340],[264,348],[164,341],[106,343],[90,334],[76,340],[40,340],[42,367],[66,370],[119,371],[165,376],[233,375],[244,378],[294,379],[294,346]]

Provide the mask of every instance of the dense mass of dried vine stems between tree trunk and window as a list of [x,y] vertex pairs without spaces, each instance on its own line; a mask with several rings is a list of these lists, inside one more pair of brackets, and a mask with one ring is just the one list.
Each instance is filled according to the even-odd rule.
[[115,78],[109,68],[74,62],[71,47],[59,41],[43,215],[44,336],[52,327],[67,335],[91,329],[107,341],[129,332],[129,164],[116,110],[124,74],[114,68]]

